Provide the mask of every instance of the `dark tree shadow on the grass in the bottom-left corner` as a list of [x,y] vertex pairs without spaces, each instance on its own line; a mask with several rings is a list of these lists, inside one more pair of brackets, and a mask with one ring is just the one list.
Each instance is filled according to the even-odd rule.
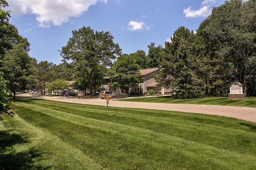
[[20,134],[10,134],[0,131],[0,170],[46,170],[40,165],[33,165],[35,159],[40,159],[41,153],[35,149],[17,152],[15,144],[28,143],[28,139]]

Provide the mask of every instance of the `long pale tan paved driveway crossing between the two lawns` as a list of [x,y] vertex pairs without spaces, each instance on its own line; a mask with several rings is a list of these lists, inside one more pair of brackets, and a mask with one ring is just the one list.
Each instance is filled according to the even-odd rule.
[[[49,97],[49,96],[33,96],[29,94],[19,95],[21,97],[34,97],[61,102],[73,102],[80,104],[91,104],[107,106],[104,99],[76,99],[69,97]],[[143,108],[155,110],[169,110],[190,113],[204,113],[210,115],[220,115],[226,117],[234,117],[246,121],[256,123],[256,108],[236,107],[236,106],[214,106],[214,105],[199,105],[199,104],[168,104],[168,103],[148,103],[148,102],[126,102],[110,100],[108,106],[122,108]]]

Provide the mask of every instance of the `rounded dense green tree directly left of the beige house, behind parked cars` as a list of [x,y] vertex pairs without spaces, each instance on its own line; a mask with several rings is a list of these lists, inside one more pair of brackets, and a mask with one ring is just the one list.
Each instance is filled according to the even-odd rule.
[[133,55],[121,55],[109,71],[110,77],[114,80],[112,86],[125,89],[126,93],[128,93],[129,88],[138,84],[143,79],[139,68]]

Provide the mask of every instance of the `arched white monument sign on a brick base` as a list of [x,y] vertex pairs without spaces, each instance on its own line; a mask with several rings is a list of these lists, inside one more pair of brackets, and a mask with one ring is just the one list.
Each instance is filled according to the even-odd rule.
[[228,94],[228,99],[245,99],[245,94],[243,93],[243,84],[233,82],[229,86],[230,93]]

